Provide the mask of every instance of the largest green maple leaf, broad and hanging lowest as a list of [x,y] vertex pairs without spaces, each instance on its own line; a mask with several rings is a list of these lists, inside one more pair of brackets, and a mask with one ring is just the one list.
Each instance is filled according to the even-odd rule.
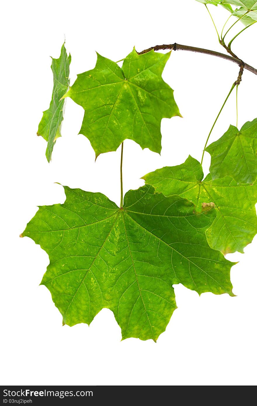
[[72,326],[111,309],[123,339],[156,340],[176,309],[173,284],[233,296],[233,263],[209,247],[215,218],[151,186],[130,190],[119,209],[101,193],[65,187],[64,204],[39,207],[22,236],[49,255],[42,284]]

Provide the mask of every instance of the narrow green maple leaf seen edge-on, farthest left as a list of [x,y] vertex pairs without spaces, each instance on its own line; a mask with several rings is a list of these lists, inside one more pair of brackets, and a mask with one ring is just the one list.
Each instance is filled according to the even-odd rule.
[[56,139],[61,136],[60,129],[63,121],[65,100],[60,100],[69,87],[69,65],[71,56],[67,55],[63,44],[58,59],[52,58],[51,69],[54,76],[54,87],[52,100],[48,110],[43,112],[43,117],[39,123],[37,135],[42,136],[47,142],[46,158],[51,160],[52,151]]

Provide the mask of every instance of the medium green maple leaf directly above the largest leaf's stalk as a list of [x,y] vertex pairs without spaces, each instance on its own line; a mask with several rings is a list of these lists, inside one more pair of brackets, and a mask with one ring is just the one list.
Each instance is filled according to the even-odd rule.
[[80,133],[89,138],[96,157],[116,151],[126,138],[160,153],[163,117],[180,116],[173,90],[162,80],[170,56],[134,49],[122,68],[97,54],[95,68],[78,75],[64,97],[85,110]]

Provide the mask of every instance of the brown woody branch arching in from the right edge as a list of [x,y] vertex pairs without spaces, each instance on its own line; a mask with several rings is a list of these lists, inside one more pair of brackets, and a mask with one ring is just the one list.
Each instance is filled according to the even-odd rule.
[[[200,54],[218,56],[218,58],[230,60],[231,62],[234,62],[237,65],[239,65],[240,72],[242,71],[242,73],[243,73],[243,68],[244,68],[244,69],[247,69],[248,71],[254,73],[255,75],[257,75],[257,69],[252,67],[251,65],[248,65],[248,63],[244,63],[241,59],[239,59],[236,56],[222,54],[221,52],[217,52],[217,51],[206,50],[204,48],[197,48],[197,47],[191,47],[189,45],[180,45],[180,44],[174,43],[174,44],[166,44],[166,45],[165,44],[164,45],[155,45],[154,47],[147,48],[146,50],[138,52],[138,54],[139,55],[145,54],[146,52],[149,52],[151,50],[154,50],[154,51],[159,51],[159,50],[191,51],[191,52],[199,52]],[[239,78],[240,80],[241,80],[242,73],[240,73],[240,78]]]

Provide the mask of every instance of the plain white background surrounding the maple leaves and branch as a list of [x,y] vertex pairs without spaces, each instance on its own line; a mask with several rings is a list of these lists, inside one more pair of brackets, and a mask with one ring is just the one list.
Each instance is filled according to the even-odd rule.
[[[233,266],[234,298],[198,296],[175,285],[178,309],[157,343],[121,341],[112,312],[103,309],[91,326],[62,326],[50,292],[39,286],[48,255],[29,238],[19,238],[37,205],[63,203],[60,184],[105,193],[119,203],[117,152],[94,162],[89,141],[78,135],[83,109],[67,99],[62,138],[48,164],[37,127],[50,103],[49,55],[58,58],[66,38],[71,84],[95,66],[95,50],[112,60],[162,43],[222,51],[203,4],[181,1],[12,1],[2,4],[1,37],[1,384],[254,385],[256,384],[256,251],[227,258]],[[219,27],[228,17],[209,6]],[[241,23],[236,24],[243,28]],[[244,31],[233,49],[257,66],[257,27]],[[224,50],[225,52],[225,50]],[[143,185],[140,177],[188,157],[201,159],[209,129],[238,66],[212,56],[172,52],[163,78],[175,89],[183,119],[162,120],[161,156],[124,143],[124,192]],[[257,77],[245,71],[239,89],[239,127],[257,116]],[[235,125],[235,91],[211,136]],[[209,155],[205,154],[205,173]]]

